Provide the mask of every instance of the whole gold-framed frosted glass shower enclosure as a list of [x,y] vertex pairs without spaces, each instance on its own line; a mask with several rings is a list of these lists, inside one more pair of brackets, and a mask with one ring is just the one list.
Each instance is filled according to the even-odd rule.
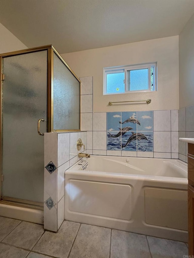
[[52,45],[0,54],[0,71],[0,215],[42,211],[44,133],[80,130],[81,82]]

